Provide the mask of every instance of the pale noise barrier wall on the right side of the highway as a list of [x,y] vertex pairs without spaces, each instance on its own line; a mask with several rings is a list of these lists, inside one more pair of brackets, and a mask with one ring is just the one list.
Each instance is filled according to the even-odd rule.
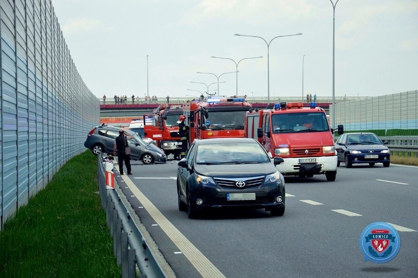
[[417,107],[418,91],[340,102],[335,106],[335,122],[347,131],[418,129]]

